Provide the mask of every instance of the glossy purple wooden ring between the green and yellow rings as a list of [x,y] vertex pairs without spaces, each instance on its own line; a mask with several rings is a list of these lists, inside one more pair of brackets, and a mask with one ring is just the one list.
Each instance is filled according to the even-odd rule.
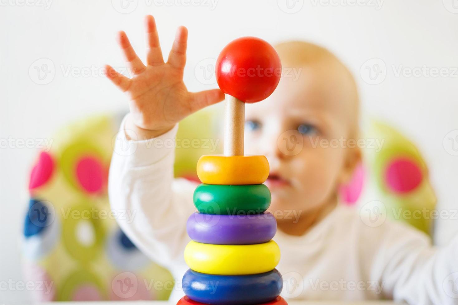
[[215,215],[196,212],[186,223],[193,241],[214,245],[251,245],[270,241],[277,232],[277,221],[269,213]]

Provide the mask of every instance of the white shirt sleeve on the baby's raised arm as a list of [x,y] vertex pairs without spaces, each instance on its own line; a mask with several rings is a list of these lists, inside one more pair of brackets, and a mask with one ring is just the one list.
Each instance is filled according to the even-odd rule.
[[195,211],[196,185],[174,179],[178,125],[157,138],[131,141],[125,135],[126,118],[116,136],[109,170],[111,209],[131,215],[117,222],[148,257],[166,268],[185,268],[183,251],[190,241],[186,221]]

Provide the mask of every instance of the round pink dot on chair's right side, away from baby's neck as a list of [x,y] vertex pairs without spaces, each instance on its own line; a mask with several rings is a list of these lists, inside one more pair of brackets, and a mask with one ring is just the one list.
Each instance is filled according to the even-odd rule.
[[385,171],[387,186],[394,193],[409,193],[420,185],[423,174],[414,161],[398,158],[391,161]]

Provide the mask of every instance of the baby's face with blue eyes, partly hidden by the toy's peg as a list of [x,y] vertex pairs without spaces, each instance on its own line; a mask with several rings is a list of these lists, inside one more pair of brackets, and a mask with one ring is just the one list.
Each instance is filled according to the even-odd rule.
[[356,93],[349,75],[334,65],[294,68],[298,78],[282,76],[271,96],[246,105],[245,152],[269,161],[269,211],[279,221],[291,221],[292,211],[320,209],[352,170],[354,156],[339,139],[356,126],[357,106],[349,101]]

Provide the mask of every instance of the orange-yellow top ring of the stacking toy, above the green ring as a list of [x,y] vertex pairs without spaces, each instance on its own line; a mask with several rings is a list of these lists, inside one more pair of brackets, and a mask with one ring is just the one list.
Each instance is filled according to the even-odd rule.
[[203,155],[197,176],[206,184],[261,184],[269,176],[269,162],[263,155]]

